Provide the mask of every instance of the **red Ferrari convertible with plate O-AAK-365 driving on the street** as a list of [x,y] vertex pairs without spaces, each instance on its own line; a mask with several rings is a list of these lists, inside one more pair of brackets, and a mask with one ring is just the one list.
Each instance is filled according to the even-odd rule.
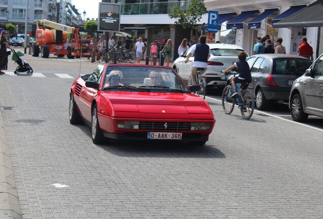
[[181,140],[204,145],[215,119],[208,103],[191,94],[171,67],[99,65],[74,80],[71,124],[85,122],[94,143],[108,139]]

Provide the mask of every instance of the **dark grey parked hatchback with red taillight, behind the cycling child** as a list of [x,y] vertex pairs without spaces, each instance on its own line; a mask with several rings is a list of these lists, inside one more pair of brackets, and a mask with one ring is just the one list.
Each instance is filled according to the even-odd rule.
[[271,101],[288,102],[294,81],[304,74],[312,61],[297,55],[259,54],[247,60],[251,69],[250,89],[255,106],[264,110]]

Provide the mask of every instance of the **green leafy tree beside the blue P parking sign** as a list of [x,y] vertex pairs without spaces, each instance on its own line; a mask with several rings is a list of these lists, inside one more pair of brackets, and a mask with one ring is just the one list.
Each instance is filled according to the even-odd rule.
[[191,0],[185,11],[178,6],[173,6],[173,12],[169,13],[168,16],[176,19],[175,24],[182,25],[184,29],[190,28],[192,35],[193,29],[198,28],[197,22],[206,13],[207,11],[203,0]]

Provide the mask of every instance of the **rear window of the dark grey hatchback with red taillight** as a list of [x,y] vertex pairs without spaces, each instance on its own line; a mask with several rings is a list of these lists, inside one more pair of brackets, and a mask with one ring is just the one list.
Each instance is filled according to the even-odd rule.
[[277,58],[273,60],[273,75],[301,76],[312,61],[302,58]]

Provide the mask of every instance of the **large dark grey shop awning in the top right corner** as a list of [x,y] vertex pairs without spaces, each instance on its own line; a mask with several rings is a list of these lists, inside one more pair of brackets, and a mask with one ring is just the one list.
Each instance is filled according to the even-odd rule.
[[275,28],[317,26],[323,26],[323,0],[318,0],[273,25]]

